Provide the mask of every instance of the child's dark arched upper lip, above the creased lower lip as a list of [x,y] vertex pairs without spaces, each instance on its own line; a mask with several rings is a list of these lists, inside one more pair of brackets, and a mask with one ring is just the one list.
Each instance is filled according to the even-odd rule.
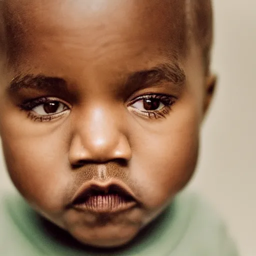
[[115,193],[129,201],[137,201],[133,191],[121,181],[110,181],[107,183],[91,181],[84,183],[78,188],[71,200],[71,204],[80,204],[91,195],[107,193]]

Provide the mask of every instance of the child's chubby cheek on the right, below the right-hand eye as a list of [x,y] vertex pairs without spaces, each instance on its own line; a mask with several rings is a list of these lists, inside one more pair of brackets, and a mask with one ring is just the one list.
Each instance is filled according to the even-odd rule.
[[[167,119],[137,136],[132,178],[150,210],[164,206],[191,178],[198,155],[199,114],[195,107],[173,107]],[[136,166],[135,166],[136,165]],[[138,170],[139,171],[135,171]]]

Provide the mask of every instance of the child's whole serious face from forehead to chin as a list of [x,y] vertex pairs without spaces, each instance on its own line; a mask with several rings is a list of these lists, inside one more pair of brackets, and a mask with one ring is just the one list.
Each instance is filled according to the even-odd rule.
[[196,164],[208,96],[201,57],[184,43],[184,3],[7,2],[0,132],[10,176],[81,242],[126,243]]

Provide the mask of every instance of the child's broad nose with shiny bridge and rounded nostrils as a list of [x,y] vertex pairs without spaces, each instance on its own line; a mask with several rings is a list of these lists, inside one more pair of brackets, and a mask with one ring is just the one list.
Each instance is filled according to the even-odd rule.
[[74,122],[75,132],[68,152],[71,165],[131,158],[128,138],[120,131],[123,121],[109,109],[94,109]]

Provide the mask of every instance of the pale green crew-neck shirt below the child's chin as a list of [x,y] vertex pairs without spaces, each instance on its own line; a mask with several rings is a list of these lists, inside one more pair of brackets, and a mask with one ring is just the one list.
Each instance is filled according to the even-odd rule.
[[18,195],[0,202],[0,255],[237,256],[225,225],[198,196],[183,191],[125,249],[92,252],[60,243]]

